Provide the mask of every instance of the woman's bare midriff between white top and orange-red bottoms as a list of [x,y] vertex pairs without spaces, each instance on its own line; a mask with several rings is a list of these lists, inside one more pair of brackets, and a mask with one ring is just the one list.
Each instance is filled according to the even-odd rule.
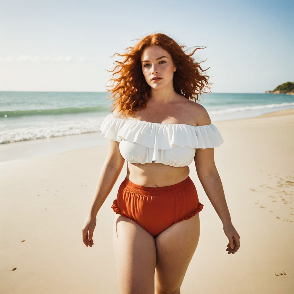
[[188,166],[169,166],[162,163],[127,163],[126,177],[133,183],[144,187],[171,186],[188,178]]

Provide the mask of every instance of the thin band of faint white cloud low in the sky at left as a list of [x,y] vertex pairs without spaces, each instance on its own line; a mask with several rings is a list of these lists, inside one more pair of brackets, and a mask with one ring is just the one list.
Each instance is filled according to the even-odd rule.
[[40,56],[27,56],[27,55],[22,55],[19,57],[13,57],[13,56],[8,56],[6,58],[0,56],[0,62],[33,62],[33,63],[38,63],[38,62],[85,62],[86,59],[83,57],[78,57],[74,58],[72,56],[58,56],[58,57],[40,57]]

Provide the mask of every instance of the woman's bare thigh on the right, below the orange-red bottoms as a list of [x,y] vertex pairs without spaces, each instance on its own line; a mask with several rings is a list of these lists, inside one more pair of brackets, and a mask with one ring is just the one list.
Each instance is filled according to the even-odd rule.
[[188,265],[198,245],[199,213],[175,223],[156,236],[157,261],[155,288],[157,293],[181,288]]

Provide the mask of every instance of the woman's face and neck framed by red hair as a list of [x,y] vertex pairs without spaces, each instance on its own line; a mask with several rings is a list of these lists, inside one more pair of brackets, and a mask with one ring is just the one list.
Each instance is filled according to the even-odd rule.
[[[160,58],[162,56],[166,57]],[[177,95],[173,88],[173,73],[177,67],[171,55],[161,46],[148,46],[143,50],[141,64],[146,82],[151,87],[152,101],[162,104],[172,100]],[[155,76],[162,79],[152,81]]]

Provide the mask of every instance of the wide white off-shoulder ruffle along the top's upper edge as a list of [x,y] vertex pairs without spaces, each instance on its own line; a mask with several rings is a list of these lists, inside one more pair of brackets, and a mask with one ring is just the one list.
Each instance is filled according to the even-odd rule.
[[108,114],[100,127],[105,138],[138,143],[153,149],[171,149],[174,146],[213,148],[224,140],[214,124],[191,126],[180,123],[151,123],[137,119],[117,118]]

